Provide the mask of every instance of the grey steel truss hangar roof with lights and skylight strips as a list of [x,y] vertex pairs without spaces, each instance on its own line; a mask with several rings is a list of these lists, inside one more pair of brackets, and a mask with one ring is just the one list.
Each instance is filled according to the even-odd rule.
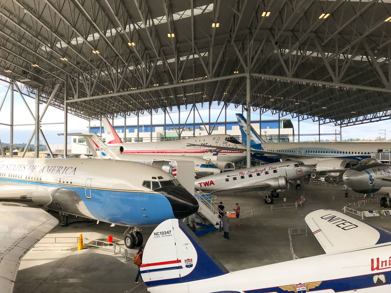
[[243,105],[248,77],[253,109],[344,126],[391,114],[390,0],[9,0],[0,24],[3,79],[43,102],[55,89],[60,109],[67,84],[86,119]]

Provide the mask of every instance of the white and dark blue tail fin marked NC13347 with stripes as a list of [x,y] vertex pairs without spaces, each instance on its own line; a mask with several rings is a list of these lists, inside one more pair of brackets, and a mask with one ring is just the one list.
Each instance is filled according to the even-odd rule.
[[162,222],[152,232],[140,265],[147,286],[202,280],[228,273],[180,220]]

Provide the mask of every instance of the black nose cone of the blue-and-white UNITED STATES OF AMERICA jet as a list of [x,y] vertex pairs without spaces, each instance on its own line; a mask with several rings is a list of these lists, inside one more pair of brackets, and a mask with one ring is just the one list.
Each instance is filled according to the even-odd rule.
[[183,219],[198,211],[195,197],[183,186],[163,187],[155,189],[163,194],[170,202],[175,218]]

